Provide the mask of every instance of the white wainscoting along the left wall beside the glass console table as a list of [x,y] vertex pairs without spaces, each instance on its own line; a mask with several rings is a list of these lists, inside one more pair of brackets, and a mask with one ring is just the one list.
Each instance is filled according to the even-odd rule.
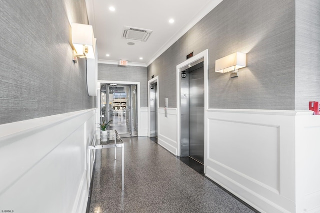
[[1,210],[84,213],[95,109],[0,125]]

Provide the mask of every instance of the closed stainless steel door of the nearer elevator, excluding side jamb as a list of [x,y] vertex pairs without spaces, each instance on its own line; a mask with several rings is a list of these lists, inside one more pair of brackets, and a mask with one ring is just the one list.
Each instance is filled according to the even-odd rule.
[[203,66],[189,72],[189,156],[203,163],[203,156],[204,156]]

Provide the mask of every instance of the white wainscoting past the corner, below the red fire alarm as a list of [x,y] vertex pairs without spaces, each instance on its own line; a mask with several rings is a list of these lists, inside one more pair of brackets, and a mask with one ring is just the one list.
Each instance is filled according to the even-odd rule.
[[295,118],[296,213],[320,213],[320,115]]

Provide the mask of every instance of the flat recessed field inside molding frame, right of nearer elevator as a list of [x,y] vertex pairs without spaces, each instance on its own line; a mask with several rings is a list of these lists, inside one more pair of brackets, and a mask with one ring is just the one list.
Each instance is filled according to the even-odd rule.
[[279,191],[278,127],[209,119],[209,129],[209,160]]

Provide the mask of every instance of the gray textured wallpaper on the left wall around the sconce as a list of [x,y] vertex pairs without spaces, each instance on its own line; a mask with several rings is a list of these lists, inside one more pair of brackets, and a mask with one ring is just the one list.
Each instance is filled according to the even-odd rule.
[[84,0],[0,0],[0,124],[95,107],[85,60],[72,62],[69,21]]

